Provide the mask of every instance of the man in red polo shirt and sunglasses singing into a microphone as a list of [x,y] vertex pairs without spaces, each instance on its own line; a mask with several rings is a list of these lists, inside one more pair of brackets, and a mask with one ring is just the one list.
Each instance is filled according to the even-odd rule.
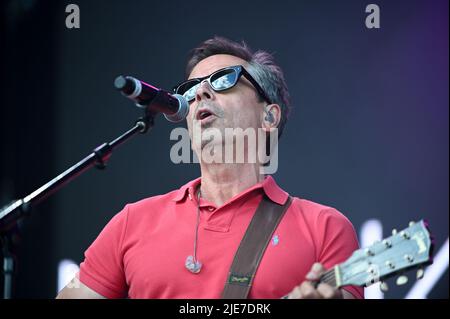
[[[202,160],[205,151],[225,153],[230,143],[235,149],[227,128],[277,129],[281,136],[289,96],[273,57],[214,37],[192,50],[186,78],[175,93],[189,102],[187,125],[201,177],[126,205],[87,249],[80,272],[58,298],[221,298],[263,197],[287,203],[288,193],[264,174],[259,157]],[[208,130],[223,138],[205,137]],[[246,141],[244,155],[255,147]],[[292,196],[271,236],[248,298],[363,298],[359,287],[317,284],[325,269],[358,249],[352,224],[336,209]]]

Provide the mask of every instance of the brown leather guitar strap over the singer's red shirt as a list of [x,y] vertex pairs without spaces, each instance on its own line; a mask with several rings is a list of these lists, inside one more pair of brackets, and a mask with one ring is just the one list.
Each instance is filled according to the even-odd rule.
[[247,298],[264,251],[291,202],[290,196],[284,205],[263,196],[234,256],[222,292],[223,299]]

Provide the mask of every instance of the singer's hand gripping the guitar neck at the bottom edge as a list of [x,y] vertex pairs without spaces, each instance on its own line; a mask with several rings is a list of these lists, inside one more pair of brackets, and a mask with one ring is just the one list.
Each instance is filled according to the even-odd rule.
[[314,288],[313,283],[317,282],[320,276],[325,272],[325,268],[315,263],[309,273],[306,275],[306,281],[297,286],[288,295],[287,299],[350,299],[354,298],[352,294],[345,290],[334,288],[328,284],[320,283]]

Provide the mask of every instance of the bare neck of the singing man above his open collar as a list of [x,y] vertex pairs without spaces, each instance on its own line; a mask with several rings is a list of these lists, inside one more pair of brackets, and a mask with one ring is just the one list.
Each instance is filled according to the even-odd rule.
[[201,196],[217,206],[264,180],[255,164],[201,165],[201,171]]

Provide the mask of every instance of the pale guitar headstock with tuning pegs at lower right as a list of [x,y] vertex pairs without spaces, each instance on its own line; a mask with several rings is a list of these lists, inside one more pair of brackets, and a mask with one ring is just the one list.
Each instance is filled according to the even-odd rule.
[[[369,286],[412,268],[432,263],[433,242],[428,225],[421,220],[411,222],[400,232],[393,230],[392,236],[376,242],[367,248],[355,251],[352,256],[339,265],[338,286]],[[423,268],[417,277],[423,276]],[[405,283],[401,276],[397,284]]]

